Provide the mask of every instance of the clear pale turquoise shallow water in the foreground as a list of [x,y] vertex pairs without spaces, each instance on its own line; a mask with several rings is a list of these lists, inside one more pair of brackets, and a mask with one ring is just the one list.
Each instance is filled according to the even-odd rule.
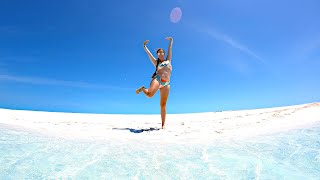
[[71,141],[0,126],[0,154],[0,179],[319,179],[320,125],[210,144]]

